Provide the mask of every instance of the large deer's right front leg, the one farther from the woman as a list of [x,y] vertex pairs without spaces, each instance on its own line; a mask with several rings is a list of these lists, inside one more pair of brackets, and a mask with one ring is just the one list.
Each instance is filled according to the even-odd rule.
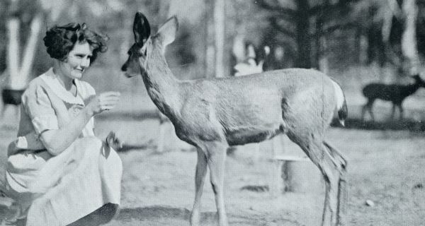
[[227,226],[225,199],[223,192],[225,160],[227,145],[211,143],[208,145],[208,167],[210,167],[210,181],[215,195],[218,222],[220,226]]

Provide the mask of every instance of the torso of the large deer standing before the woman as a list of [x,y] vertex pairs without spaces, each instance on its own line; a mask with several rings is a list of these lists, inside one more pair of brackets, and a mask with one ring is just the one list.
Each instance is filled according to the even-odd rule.
[[316,110],[323,105],[330,109],[323,117],[330,117],[333,89],[329,77],[308,69],[193,81],[181,109],[183,121],[191,123],[182,126],[203,139],[226,136],[232,145],[263,141],[288,126],[285,117],[304,114],[298,117],[302,123],[314,123],[320,121],[314,117],[322,117]]

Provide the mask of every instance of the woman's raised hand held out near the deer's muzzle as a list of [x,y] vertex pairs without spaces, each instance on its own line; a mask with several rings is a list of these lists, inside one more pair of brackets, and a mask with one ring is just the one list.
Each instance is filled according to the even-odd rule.
[[96,95],[86,106],[89,114],[99,114],[105,110],[113,109],[120,100],[119,92],[106,92]]

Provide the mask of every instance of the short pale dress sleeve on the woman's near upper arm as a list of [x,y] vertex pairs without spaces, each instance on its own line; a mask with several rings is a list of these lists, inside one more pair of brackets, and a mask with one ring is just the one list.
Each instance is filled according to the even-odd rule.
[[35,133],[40,135],[50,129],[59,129],[55,109],[41,85],[28,87],[22,96],[22,103],[33,123]]

